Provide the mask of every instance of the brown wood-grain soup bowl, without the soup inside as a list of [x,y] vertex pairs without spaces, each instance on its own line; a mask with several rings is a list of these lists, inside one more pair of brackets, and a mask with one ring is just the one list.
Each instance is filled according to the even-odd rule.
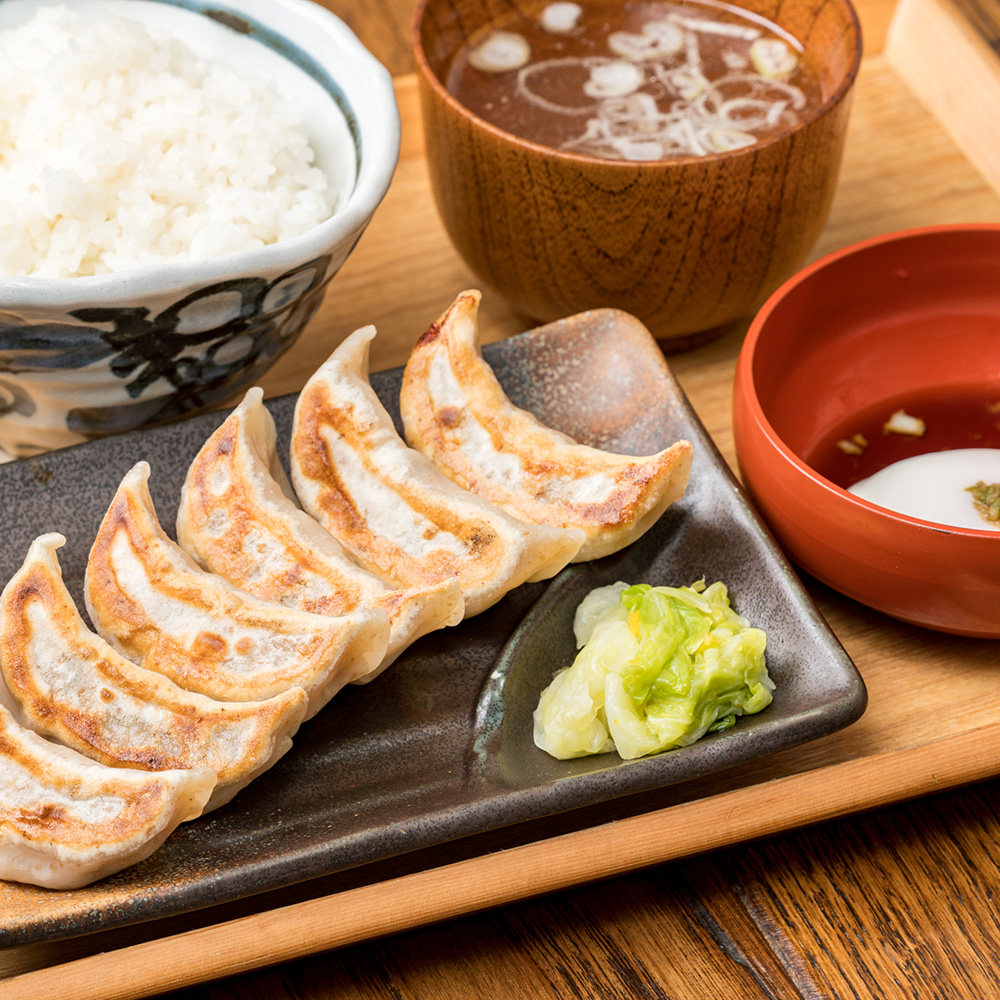
[[743,0],[817,67],[825,100],[754,146],[630,163],[489,125],[443,81],[484,25],[545,0],[420,0],[413,55],[434,197],[466,264],[525,316],[614,306],[667,349],[711,339],[799,268],[840,168],[861,30],[848,0]]

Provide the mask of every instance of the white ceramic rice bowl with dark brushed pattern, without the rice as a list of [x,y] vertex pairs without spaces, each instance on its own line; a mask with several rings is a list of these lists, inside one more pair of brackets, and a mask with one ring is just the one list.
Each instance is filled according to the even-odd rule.
[[[37,6],[0,0],[0,29]],[[254,65],[303,107],[338,206],[301,236],[258,249],[89,277],[0,276],[0,448],[14,457],[174,420],[259,380],[320,305],[398,158],[389,74],[318,5],[110,6],[237,68],[253,46]]]

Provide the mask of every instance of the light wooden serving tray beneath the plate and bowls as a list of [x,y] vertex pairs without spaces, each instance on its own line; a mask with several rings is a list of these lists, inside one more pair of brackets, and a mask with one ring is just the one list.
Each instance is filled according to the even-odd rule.
[[[455,293],[475,285],[429,194],[414,79],[401,78],[397,93],[403,147],[392,189],[301,346],[269,375],[269,396],[300,388],[366,323],[379,329],[373,367],[402,363]],[[868,57],[814,256],[879,233],[962,221],[1000,221],[1000,197],[882,58]],[[482,318],[488,340],[527,325],[489,294]],[[742,333],[670,359],[734,467],[730,388]],[[1000,724],[988,722],[1000,708],[1000,645],[894,622],[807,585],[868,687],[868,711],[848,729],[634,802],[613,822],[600,810],[554,817],[238,905],[0,950],[0,1000],[180,989],[1000,772]]]

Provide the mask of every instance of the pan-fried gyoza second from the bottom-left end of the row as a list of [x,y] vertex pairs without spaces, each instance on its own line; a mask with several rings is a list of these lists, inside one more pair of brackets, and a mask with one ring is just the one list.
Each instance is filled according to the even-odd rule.
[[210,767],[217,784],[205,811],[228,802],[291,747],[305,691],[214,701],[119,656],[63,583],[65,541],[35,539],[0,595],[0,672],[18,721],[113,767]]

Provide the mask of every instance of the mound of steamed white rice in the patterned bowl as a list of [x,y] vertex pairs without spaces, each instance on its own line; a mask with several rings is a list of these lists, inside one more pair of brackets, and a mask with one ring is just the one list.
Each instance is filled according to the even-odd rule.
[[273,83],[110,11],[0,31],[0,275],[78,277],[300,235],[335,195]]

